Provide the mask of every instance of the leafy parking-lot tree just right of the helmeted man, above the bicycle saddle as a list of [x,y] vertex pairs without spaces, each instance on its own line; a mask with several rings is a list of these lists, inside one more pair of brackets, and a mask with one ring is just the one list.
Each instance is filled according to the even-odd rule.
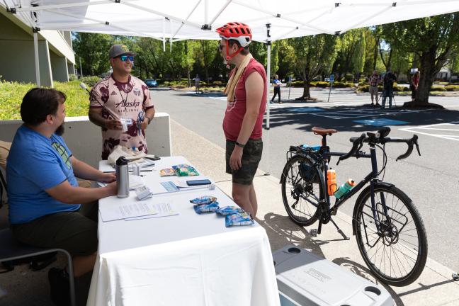
[[301,38],[290,38],[289,45],[293,52],[289,52],[294,63],[295,72],[305,82],[303,94],[297,100],[311,98],[310,82],[319,75],[322,69],[330,69],[336,58],[335,35],[320,34]]

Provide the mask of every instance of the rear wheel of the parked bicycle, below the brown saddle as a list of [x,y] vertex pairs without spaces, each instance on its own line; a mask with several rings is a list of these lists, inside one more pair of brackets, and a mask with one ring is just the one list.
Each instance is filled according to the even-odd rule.
[[280,183],[290,219],[297,225],[312,225],[317,220],[319,200],[325,190],[322,172],[307,157],[296,155],[285,164]]

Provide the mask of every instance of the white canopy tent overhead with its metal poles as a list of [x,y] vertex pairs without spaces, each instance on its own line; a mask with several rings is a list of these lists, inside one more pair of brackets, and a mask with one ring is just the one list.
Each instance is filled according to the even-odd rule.
[[[459,11],[459,0],[2,0],[9,12],[34,29],[35,69],[40,86],[37,31],[70,30],[145,36],[172,45],[186,39],[218,39],[215,28],[247,23],[253,39],[271,42],[319,33],[339,34]],[[338,2],[340,1],[340,2]],[[269,128],[269,106],[267,110]]]

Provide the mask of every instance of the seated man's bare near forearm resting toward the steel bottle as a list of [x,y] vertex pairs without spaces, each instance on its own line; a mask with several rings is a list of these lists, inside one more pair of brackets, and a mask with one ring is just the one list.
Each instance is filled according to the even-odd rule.
[[46,189],[46,192],[56,200],[67,204],[89,203],[94,200],[115,196],[117,193],[116,182],[109,183],[101,188],[74,187],[65,180],[57,186]]

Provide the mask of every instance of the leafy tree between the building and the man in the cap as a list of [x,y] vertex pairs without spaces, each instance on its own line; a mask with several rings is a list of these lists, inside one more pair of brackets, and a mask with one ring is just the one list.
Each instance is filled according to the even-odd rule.
[[100,75],[110,69],[108,50],[112,45],[113,36],[75,32],[73,38],[74,51],[81,57],[84,74]]

